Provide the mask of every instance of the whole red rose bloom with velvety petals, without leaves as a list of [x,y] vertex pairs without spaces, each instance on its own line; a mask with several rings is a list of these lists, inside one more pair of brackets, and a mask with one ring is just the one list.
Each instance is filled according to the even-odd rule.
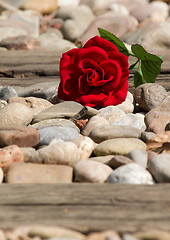
[[128,67],[127,56],[95,36],[83,48],[62,55],[58,98],[90,107],[120,104],[128,91]]

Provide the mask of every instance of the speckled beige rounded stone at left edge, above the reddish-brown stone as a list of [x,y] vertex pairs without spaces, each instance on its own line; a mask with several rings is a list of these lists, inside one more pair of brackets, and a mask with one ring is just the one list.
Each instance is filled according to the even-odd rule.
[[31,109],[20,103],[10,103],[0,109],[0,126],[1,128],[28,125],[33,119]]

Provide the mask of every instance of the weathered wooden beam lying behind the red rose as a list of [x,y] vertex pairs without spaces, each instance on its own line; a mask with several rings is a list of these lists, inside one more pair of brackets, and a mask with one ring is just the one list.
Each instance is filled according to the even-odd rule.
[[[52,51],[5,51],[0,58],[0,86],[29,86],[40,82],[54,81],[59,77],[61,52]],[[161,74],[156,82],[170,91],[170,51],[160,52],[164,56]],[[130,61],[132,61],[130,59]],[[128,79],[129,91],[133,91],[133,73]]]

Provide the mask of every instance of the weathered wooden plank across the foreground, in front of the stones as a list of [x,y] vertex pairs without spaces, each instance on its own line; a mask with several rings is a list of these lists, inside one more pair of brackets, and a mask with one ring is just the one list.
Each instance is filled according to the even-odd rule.
[[59,225],[87,233],[170,231],[170,184],[2,184],[0,227]]

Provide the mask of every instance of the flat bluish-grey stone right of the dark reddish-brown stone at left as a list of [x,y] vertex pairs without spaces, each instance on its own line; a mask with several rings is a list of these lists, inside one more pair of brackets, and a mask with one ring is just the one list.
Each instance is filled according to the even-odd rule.
[[52,126],[39,129],[38,132],[40,133],[39,146],[48,145],[52,139],[72,141],[80,136],[77,129],[72,127]]

